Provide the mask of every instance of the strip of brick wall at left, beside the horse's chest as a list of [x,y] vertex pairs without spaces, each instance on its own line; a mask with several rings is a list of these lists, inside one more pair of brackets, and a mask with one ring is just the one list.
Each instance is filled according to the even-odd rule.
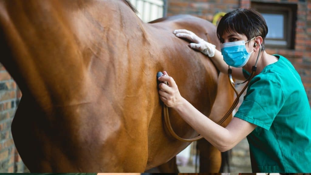
[[24,164],[14,146],[11,124],[21,91],[0,64],[0,173],[24,172]]

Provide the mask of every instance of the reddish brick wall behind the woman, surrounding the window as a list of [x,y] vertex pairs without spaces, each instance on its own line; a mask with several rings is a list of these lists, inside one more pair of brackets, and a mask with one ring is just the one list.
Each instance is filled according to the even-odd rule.
[[[250,7],[250,0],[168,0],[167,15],[191,14],[208,21],[218,12]],[[269,49],[268,54],[281,54],[291,61],[301,76],[311,105],[311,1],[256,0],[254,2],[295,3],[298,5],[295,49]]]

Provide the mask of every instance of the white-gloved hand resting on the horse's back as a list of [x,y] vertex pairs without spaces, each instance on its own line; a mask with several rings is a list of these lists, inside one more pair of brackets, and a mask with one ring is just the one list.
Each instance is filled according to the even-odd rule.
[[206,42],[205,40],[194,34],[192,31],[188,31],[186,29],[179,29],[174,30],[173,33],[179,38],[186,38],[190,40],[192,42],[190,43],[190,47],[192,49],[199,50],[209,57],[213,57],[215,55],[216,46],[209,42]]

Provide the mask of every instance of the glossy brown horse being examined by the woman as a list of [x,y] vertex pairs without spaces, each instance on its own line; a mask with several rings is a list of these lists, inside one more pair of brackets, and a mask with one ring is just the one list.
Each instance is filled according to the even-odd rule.
[[[12,135],[29,170],[144,172],[188,146],[164,127],[156,73],[168,71],[206,116],[227,80],[172,34],[181,28],[219,49],[210,22],[146,24],[124,0],[1,0],[0,61],[23,94]],[[178,135],[197,135],[169,114]]]

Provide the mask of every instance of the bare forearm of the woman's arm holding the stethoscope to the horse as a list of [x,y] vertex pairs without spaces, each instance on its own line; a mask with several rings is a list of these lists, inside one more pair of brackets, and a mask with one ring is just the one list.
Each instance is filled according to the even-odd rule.
[[232,140],[230,132],[226,128],[211,121],[184,98],[181,105],[174,109],[184,121],[186,121],[197,131],[197,133],[201,134],[218,150],[223,152],[234,146],[234,140]]

